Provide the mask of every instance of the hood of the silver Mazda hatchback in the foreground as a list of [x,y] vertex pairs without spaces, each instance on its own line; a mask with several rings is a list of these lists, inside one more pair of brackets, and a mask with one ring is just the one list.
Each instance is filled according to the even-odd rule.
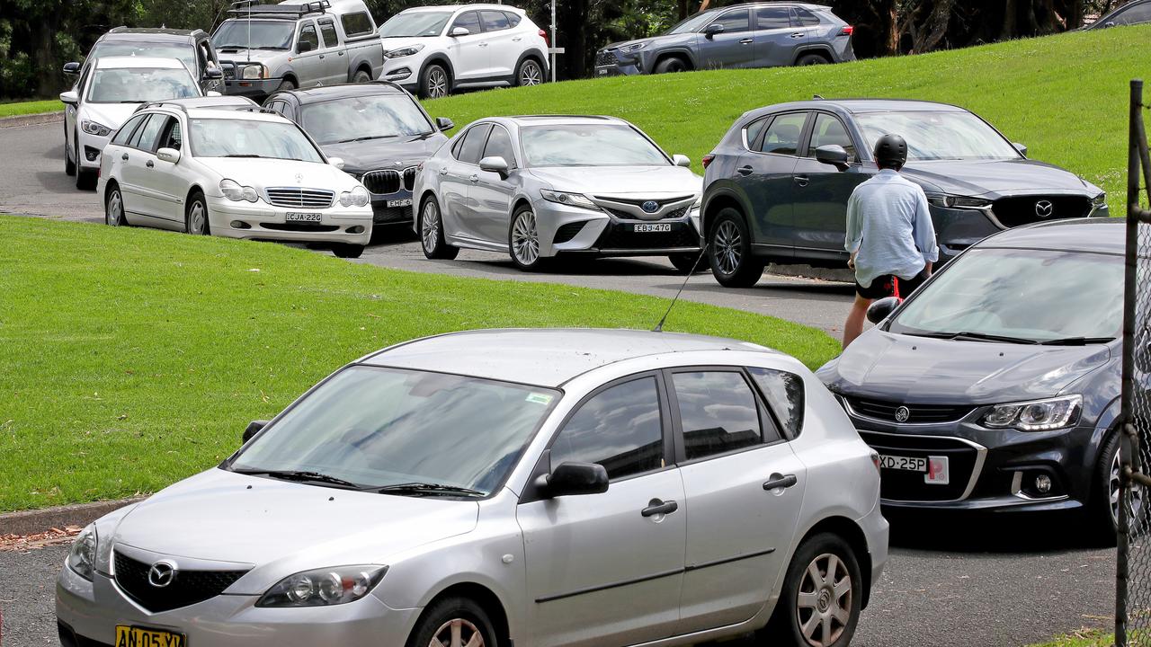
[[[208,470],[142,502],[112,541],[170,556],[254,566],[229,589],[261,594],[302,570],[381,564],[471,532],[479,504],[394,496]],[[101,542],[104,539],[101,538]]]

